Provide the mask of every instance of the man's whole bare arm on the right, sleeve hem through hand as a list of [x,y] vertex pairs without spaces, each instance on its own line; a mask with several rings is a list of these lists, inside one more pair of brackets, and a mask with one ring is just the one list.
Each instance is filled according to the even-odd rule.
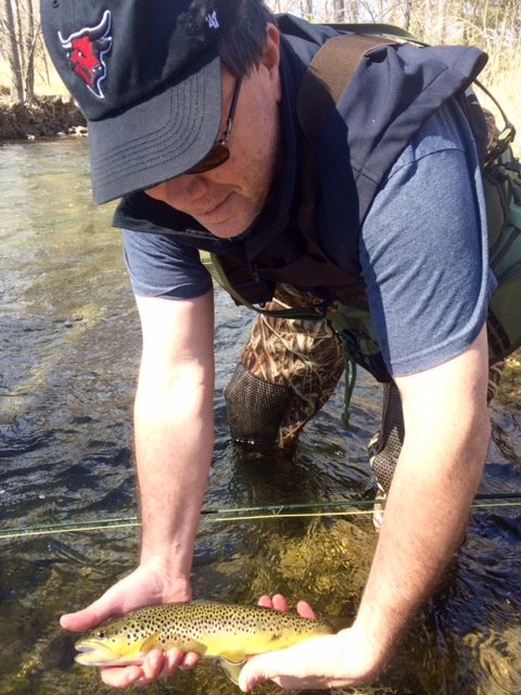
[[240,685],[361,685],[384,668],[447,567],[467,525],[490,439],[487,345],[483,328],[462,354],[396,379],[405,442],[385,505],[373,563],[352,628],[244,667]]

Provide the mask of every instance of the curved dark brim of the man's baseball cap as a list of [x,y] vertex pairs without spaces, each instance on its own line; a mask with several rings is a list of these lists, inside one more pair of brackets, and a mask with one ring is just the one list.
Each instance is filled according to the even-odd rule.
[[221,99],[215,49],[162,92],[117,115],[89,122],[94,202],[151,188],[200,162],[217,139]]

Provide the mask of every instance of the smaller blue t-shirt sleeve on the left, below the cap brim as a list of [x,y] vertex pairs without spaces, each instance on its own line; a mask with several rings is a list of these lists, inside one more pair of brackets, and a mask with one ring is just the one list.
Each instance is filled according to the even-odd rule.
[[205,294],[212,278],[199,252],[168,235],[123,231],[125,263],[138,296],[193,299]]

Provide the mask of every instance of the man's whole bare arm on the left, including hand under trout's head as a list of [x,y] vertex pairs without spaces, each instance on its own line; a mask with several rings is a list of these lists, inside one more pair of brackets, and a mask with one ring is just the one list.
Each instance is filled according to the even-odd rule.
[[[213,450],[213,295],[138,298],[143,350],[136,395],[141,500],[139,567],[63,628],[88,630],[143,605],[191,597],[190,568]],[[106,668],[109,685],[143,685],[195,655],[151,653],[142,667]]]

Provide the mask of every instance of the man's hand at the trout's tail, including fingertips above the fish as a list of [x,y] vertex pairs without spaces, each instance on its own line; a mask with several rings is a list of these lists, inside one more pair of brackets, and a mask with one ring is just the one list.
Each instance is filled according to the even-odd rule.
[[[274,596],[272,601],[263,596],[259,604],[288,610],[288,604],[280,595]],[[305,602],[300,602],[296,609],[305,618],[315,618],[313,608]],[[267,680],[295,690],[367,684],[383,667],[377,652],[364,642],[355,628],[350,628],[253,657],[241,671],[239,686],[246,693]]]

